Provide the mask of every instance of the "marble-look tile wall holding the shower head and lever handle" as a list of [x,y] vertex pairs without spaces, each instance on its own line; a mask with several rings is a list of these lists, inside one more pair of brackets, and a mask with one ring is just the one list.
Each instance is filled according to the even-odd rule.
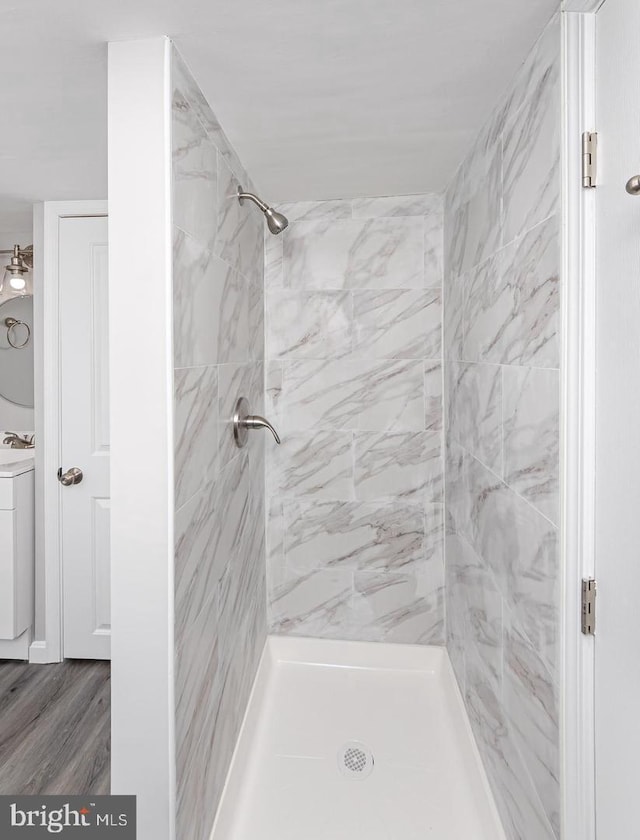
[[172,61],[177,837],[209,837],[266,636],[263,220],[202,93]]

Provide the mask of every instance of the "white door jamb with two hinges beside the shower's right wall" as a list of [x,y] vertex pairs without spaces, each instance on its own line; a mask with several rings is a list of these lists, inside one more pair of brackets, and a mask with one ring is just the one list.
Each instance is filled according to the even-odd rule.
[[[580,630],[580,584],[595,570],[595,189],[582,187],[595,125],[595,11],[563,17],[561,364],[561,785],[563,840],[595,840],[594,638]],[[569,5],[569,3],[567,5]],[[597,176],[596,176],[597,180]]]

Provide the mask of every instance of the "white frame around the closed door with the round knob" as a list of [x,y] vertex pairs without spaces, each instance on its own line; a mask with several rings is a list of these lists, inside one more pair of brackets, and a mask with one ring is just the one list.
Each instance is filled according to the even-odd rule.
[[[46,201],[34,207],[34,342],[36,432],[36,611],[44,638],[29,661],[61,662],[62,550],[60,457],[59,225],[61,219],[106,216],[107,201]],[[36,615],[36,622],[42,617]],[[38,627],[41,630],[41,627]]]

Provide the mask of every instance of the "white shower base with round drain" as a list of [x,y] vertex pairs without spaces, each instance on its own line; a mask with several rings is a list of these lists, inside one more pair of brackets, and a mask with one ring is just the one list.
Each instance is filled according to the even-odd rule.
[[270,637],[211,840],[427,837],[504,840],[444,648]]

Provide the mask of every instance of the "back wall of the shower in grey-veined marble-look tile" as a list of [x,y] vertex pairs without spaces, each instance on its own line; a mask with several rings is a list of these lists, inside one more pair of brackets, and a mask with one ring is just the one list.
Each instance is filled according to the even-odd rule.
[[270,629],[442,644],[442,198],[278,209],[290,226],[265,239],[267,416],[282,436],[267,447]]

